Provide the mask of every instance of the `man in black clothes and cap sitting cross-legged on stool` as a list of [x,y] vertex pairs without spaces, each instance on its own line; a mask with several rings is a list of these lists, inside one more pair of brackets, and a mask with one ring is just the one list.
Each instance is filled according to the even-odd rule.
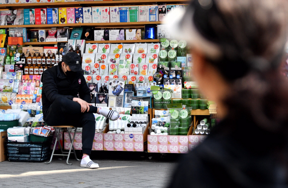
[[[89,155],[95,135],[97,113],[115,121],[119,113],[89,104],[90,90],[82,74],[81,58],[75,52],[62,57],[62,62],[43,72],[43,118],[49,126],[72,125],[83,127],[81,167],[99,168]],[[78,95],[79,94],[79,97]]]

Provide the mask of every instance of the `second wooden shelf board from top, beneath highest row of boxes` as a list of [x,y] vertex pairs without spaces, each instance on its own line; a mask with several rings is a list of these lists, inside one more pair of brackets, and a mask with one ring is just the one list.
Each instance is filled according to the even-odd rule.
[[67,23],[67,24],[40,24],[40,25],[0,25],[0,28],[10,28],[10,27],[26,27],[26,28],[52,28],[52,27],[80,27],[80,26],[90,26],[90,27],[137,27],[146,24],[160,24],[160,21],[142,21],[142,22],[117,22],[117,23]]

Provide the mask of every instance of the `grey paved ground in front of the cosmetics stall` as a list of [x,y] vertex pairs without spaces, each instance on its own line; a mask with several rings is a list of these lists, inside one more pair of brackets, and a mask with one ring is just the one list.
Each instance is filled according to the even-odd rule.
[[[80,168],[80,161],[56,158],[52,163],[0,163],[1,188],[165,188],[176,160],[129,158],[129,153],[115,159],[98,159],[99,169]],[[131,156],[133,157],[133,155]],[[93,158],[93,157],[91,157]]]

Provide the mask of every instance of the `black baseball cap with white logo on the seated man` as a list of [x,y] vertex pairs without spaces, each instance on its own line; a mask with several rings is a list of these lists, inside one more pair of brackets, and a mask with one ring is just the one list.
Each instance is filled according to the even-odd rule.
[[[76,72],[76,71],[82,71],[81,67],[81,58],[80,56],[75,52],[69,52],[66,55],[62,57],[62,62],[69,65],[69,68]],[[62,63],[61,62],[61,63]]]

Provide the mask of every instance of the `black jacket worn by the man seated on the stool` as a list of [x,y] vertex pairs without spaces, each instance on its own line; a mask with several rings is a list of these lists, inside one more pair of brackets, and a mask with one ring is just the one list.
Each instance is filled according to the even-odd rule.
[[65,97],[73,100],[74,97],[79,97],[90,102],[90,90],[86,84],[86,80],[81,72],[77,72],[76,76],[68,79],[61,69],[60,65],[53,66],[43,72],[41,77],[43,83],[42,103],[43,103],[43,118],[50,105],[59,97]]

